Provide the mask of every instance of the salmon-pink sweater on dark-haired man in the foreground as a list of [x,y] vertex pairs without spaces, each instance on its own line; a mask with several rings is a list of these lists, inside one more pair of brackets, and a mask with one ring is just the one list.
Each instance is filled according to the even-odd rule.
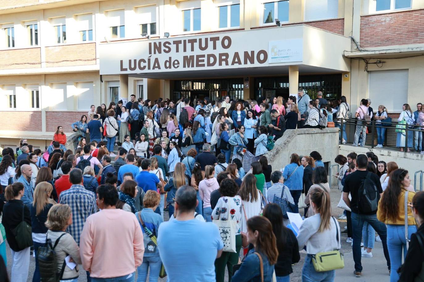
[[105,209],[89,216],[81,233],[80,253],[91,277],[133,273],[144,254],[143,234],[134,213]]

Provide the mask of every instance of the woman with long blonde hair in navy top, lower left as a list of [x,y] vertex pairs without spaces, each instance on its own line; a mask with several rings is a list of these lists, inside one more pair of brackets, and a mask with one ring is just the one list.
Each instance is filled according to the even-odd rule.
[[34,243],[35,253],[35,271],[33,281],[40,281],[40,269],[37,253],[38,248],[44,246],[46,242],[48,229],[44,223],[47,221],[47,214],[49,213],[50,208],[56,204],[56,202],[50,199],[52,191],[53,186],[49,182],[38,183],[34,190],[34,201],[30,208],[32,241]]

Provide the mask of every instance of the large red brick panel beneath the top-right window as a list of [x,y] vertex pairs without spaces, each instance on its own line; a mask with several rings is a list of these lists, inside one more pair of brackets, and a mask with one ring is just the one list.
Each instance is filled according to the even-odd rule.
[[360,32],[361,47],[424,43],[424,9],[363,16]]

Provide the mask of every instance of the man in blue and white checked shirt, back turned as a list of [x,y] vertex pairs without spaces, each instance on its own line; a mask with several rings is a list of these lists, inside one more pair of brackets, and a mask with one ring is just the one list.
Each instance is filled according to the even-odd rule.
[[93,192],[84,188],[81,169],[73,169],[69,174],[69,181],[72,186],[60,194],[59,202],[71,207],[73,223],[66,231],[72,235],[79,245],[86,219],[97,211],[96,196]]

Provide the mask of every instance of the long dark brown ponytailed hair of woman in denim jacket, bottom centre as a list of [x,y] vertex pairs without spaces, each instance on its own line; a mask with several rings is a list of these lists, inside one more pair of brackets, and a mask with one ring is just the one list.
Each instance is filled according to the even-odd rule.
[[247,229],[258,232],[256,251],[265,254],[270,265],[274,265],[278,258],[278,249],[271,222],[265,216],[254,216],[248,219]]

